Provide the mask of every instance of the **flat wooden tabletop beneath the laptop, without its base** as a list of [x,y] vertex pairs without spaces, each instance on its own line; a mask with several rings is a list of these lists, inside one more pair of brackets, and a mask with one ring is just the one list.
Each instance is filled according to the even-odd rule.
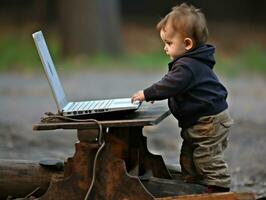
[[[103,127],[133,127],[156,125],[170,115],[165,102],[154,105],[145,103],[141,108],[133,113],[123,115],[106,114],[95,116]],[[33,130],[55,130],[55,129],[96,129],[93,122],[54,122],[36,123]]]

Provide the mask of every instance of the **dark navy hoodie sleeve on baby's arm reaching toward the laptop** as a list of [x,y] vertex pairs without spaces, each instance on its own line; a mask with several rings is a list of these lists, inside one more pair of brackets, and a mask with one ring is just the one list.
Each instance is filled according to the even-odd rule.
[[146,101],[163,100],[186,91],[194,79],[189,67],[176,63],[157,83],[144,90]]

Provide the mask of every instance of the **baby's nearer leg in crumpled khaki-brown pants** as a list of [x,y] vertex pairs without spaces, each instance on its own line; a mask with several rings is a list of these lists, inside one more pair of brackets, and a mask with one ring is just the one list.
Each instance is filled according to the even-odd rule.
[[202,117],[199,123],[187,129],[188,137],[193,141],[193,161],[199,174],[205,177],[205,183],[211,186],[229,188],[230,175],[223,159],[227,146],[227,137],[232,119],[228,111],[215,116]]

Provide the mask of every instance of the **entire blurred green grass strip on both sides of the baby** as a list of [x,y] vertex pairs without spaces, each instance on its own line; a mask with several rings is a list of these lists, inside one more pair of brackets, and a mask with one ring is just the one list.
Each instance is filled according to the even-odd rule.
[[[77,56],[63,59],[61,46],[56,35],[48,35],[48,46],[58,68],[71,69],[136,69],[157,70],[167,68],[169,58],[163,50],[149,53],[124,53],[111,56],[98,53],[88,56]],[[228,57],[216,56],[215,69],[226,75],[237,75],[252,71],[266,74],[266,50],[259,45],[246,46],[237,55]],[[40,71],[41,62],[31,34],[8,34],[0,40],[0,71]]]

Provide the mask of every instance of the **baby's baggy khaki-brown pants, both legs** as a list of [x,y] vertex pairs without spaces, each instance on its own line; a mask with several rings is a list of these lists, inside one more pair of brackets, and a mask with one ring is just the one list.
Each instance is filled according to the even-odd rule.
[[223,151],[232,124],[233,120],[225,110],[201,117],[196,125],[181,131],[184,140],[180,164],[185,180],[229,188],[230,174]]

